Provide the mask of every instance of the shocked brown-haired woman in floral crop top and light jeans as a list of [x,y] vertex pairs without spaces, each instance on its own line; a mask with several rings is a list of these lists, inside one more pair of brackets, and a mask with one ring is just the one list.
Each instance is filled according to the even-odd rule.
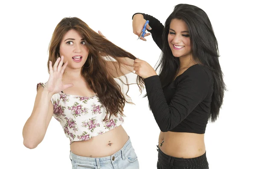
[[[108,56],[116,61],[106,60]],[[49,79],[37,85],[23,144],[37,147],[53,116],[70,139],[74,169],[138,169],[130,137],[122,128],[123,109],[130,102],[114,79],[133,72],[128,65],[134,59],[79,18],[62,19],[49,46]],[[141,77],[137,84],[141,89]]]

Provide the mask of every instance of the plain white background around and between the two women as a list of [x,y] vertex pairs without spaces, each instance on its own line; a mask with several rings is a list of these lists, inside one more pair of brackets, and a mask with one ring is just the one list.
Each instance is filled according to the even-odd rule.
[[[23,146],[22,129],[32,112],[36,84],[48,80],[48,45],[58,22],[79,17],[113,43],[155,66],[160,49],[132,32],[135,12],[151,14],[164,24],[178,3],[207,12],[219,43],[228,92],[216,123],[207,125],[205,143],[210,169],[255,168],[255,9],[243,1],[205,0],[52,0],[0,3],[0,168],[71,169],[69,139],[54,118],[35,149]],[[254,16],[254,17],[253,17]],[[130,74],[131,75],[131,74]],[[137,85],[128,93],[136,106],[125,107],[125,128],[140,169],[156,169],[159,128]]]

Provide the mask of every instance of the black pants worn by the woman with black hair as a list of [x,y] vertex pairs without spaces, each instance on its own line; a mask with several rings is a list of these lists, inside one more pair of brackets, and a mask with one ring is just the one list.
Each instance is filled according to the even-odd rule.
[[157,169],[209,169],[206,153],[197,158],[175,158],[158,149]]

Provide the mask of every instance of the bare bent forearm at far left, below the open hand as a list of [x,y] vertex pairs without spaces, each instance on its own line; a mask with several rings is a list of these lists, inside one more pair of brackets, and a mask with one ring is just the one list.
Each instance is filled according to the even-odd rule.
[[35,105],[32,115],[23,127],[23,143],[28,148],[35,148],[44,139],[49,124],[47,119],[50,117],[47,116],[51,97],[46,91],[41,93],[38,105]]

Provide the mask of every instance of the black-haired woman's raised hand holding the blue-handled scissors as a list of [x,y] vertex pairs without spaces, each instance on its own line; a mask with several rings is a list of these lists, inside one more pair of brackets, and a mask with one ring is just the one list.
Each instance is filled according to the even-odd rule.
[[[146,23],[142,14],[135,14],[132,20],[132,29],[134,34],[137,34],[140,37],[141,31]],[[146,29],[151,30],[151,27],[147,24]],[[144,37],[150,35],[150,33],[146,33]],[[141,40],[147,41],[144,37],[140,37]]]

